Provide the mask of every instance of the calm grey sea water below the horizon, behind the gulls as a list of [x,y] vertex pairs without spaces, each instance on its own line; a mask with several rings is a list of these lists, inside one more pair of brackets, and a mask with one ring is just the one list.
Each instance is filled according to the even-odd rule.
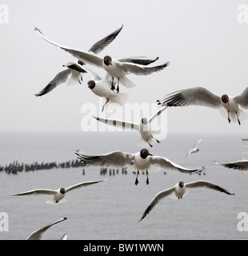
[[[248,135],[247,135],[248,137]],[[150,148],[154,155],[164,156],[183,165],[186,153],[198,141],[200,151],[187,158],[185,166],[206,166],[205,174],[182,174],[171,170],[139,175],[100,174],[101,167],[37,170],[18,174],[0,173],[0,213],[9,218],[9,231],[0,231],[0,239],[26,239],[34,230],[58,218],[67,217],[47,230],[44,239],[59,239],[68,234],[76,240],[167,240],[167,239],[246,239],[248,232],[238,231],[238,213],[248,213],[248,175],[240,170],[214,164],[242,159],[243,134],[170,134]],[[76,159],[75,150],[87,154],[106,154],[113,150],[135,153],[137,133],[1,133],[0,166],[18,161],[66,162]],[[83,173],[85,170],[85,174]],[[165,173],[166,172],[166,173]],[[46,204],[48,195],[11,197],[10,194],[38,188],[58,189],[78,182],[107,178],[92,186],[66,194],[66,202]],[[138,219],[154,195],[179,181],[204,179],[234,192],[234,196],[214,190],[190,190],[182,200],[164,198]],[[1,221],[1,220],[0,220]]]

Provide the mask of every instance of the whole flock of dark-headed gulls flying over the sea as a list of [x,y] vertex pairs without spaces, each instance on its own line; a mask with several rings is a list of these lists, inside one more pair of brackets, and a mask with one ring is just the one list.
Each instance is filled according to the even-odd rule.
[[[121,26],[118,30],[115,30],[113,33],[109,34],[105,38],[102,38],[98,42],[96,42],[93,46],[90,47],[89,50],[77,50],[67,46],[62,46],[56,42],[51,41],[46,38],[44,34],[38,28],[34,30],[38,33],[38,35],[49,42],[54,46],[58,46],[62,50],[65,50],[69,54],[71,54],[77,60],[74,62],[66,63],[64,66],[64,70],[61,70],[58,74],[54,76],[54,78],[49,82],[49,84],[43,88],[38,94],[35,94],[37,97],[41,97],[45,94],[50,93],[57,86],[66,83],[67,85],[73,84],[82,84],[83,76],[86,74],[90,74],[91,80],[87,82],[88,88],[99,98],[102,98],[102,111],[109,106],[110,104],[118,104],[118,106],[123,106],[125,104],[126,99],[128,98],[128,94],[122,93],[121,86],[125,86],[126,88],[134,87],[134,82],[130,81],[128,78],[128,74],[136,74],[136,75],[150,75],[154,72],[164,70],[170,62],[165,62],[162,65],[158,66],[150,66],[150,64],[156,62],[158,57],[149,58],[146,56],[138,56],[131,58],[121,58],[114,59],[112,56],[106,55],[103,58],[100,57],[99,53],[105,49],[111,42],[114,41],[114,38],[118,36],[121,32],[123,26]],[[98,66],[106,71],[105,77],[101,78],[98,74],[96,74],[93,70],[90,70],[88,65]],[[154,64],[153,64],[154,65]],[[149,172],[154,170],[175,170],[179,171],[183,174],[199,174],[202,170],[205,169],[204,166],[188,169],[183,166],[178,165],[175,162],[170,161],[163,156],[154,156],[150,153],[150,150],[146,149],[146,147],[153,147],[154,143],[160,143],[158,138],[156,137],[159,134],[159,130],[153,130],[152,121],[154,118],[158,118],[160,114],[164,112],[168,107],[171,106],[209,106],[215,109],[218,109],[221,114],[228,120],[228,122],[238,122],[241,125],[241,122],[245,120],[248,116],[244,110],[248,108],[248,87],[242,92],[242,94],[232,97],[227,94],[222,96],[218,96],[206,90],[202,87],[194,87],[186,90],[178,90],[167,94],[166,96],[158,99],[158,105],[161,106],[160,110],[154,113],[150,118],[142,118],[139,123],[134,122],[126,122],[125,120],[113,120],[113,119],[105,119],[99,117],[95,118],[98,122],[103,122],[106,125],[110,126],[119,126],[119,127],[129,127],[131,130],[138,131],[141,135],[140,141],[137,143],[137,146],[143,147],[142,150],[139,150],[135,153],[125,153],[120,150],[112,151],[110,153],[102,154],[102,155],[90,155],[85,154],[81,150],[77,150],[75,154],[78,156],[83,163],[90,166],[111,166],[111,167],[122,167],[131,163],[128,170],[135,171],[136,178],[134,184],[138,185],[138,174],[140,172],[146,173],[146,185],[150,183],[149,180]],[[116,105],[115,105],[116,106]],[[198,152],[198,144],[202,142],[200,139],[193,148],[186,154],[186,158],[193,153]],[[215,162],[219,164],[218,162]],[[239,170],[248,170],[248,162],[247,161],[237,161],[237,162],[229,162],[225,164],[221,164],[227,168],[239,169]],[[30,190],[18,194],[14,194],[14,196],[21,195],[30,195],[30,194],[50,194],[53,198],[47,203],[57,204],[59,202],[65,202],[65,195],[67,192],[71,190],[81,188],[82,186],[89,186],[96,184],[98,182],[103,182],[106,180],[98,180],[91,182],[81,182],[74,186],[70,186],[68,188],[59,188],[58,190],[46,190],[46,189],[38,189],[38,190]],[[207,182],[204,180],[198,180],[194,182],[178,182],[175,186],[160,191],[158,194],[154,196],[149,206],[147,206],[146,210],[142,214],[142,217],[138,220],[141,222],[143,218],[146,217],[147,214],[158,204],[158,202],[166,198],[167,196],[174,194],[176,198],[182,198],[186,193],[186,189],[205,187],[211,190],[216,190],[225,194],[233,195],[230,191],[218,186],[217,184]],[[57,221],[51,222],[46,226],[34,231],[33,234],[27,239],[42,239],[44,232],[50,228],[50,226],[54,226],[59,222],[65,221],[66,218],[58,219]],[[62,236],[61,239],[66,239],[67,235]]]

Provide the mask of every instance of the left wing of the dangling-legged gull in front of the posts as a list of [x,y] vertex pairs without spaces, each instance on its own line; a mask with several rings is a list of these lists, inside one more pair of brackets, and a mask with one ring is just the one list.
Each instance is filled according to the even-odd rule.
[[126,166],[127,163],[134,160],[134,156],[132,154],[126,154],[121,151],[114,151],[109,154],[93,156],[84,154],[82,151],[77,150],[76,154],[82,162],[93,166],[120,167]]

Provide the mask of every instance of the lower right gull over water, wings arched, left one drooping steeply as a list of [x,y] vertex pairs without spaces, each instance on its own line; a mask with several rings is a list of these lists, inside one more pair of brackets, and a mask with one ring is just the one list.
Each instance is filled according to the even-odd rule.
[[166,196],[170,194],[175,194],[178,199],[182,198],[182,196],[186,193],[186,188],[196,188],[196,187],[206,187],[211,190],[217,190],[226,194],[234,195],[233,193],[230,193],[229,191],[223,189],[221,186],[218,186],[214,183],[206,182],[206,181],[196,181],[196,182],[178,182],[175,186],[171,187],[168,190],[162,190],[158,194],[155,195],[153,200],[150,202],[150,205],[146,208],[145,212],[142,214],[142,218],[138,222],[141,222],[143,218],[146,217],[146,214],[149,214],[150,211],[158,204],[158,202],[165,198]]

